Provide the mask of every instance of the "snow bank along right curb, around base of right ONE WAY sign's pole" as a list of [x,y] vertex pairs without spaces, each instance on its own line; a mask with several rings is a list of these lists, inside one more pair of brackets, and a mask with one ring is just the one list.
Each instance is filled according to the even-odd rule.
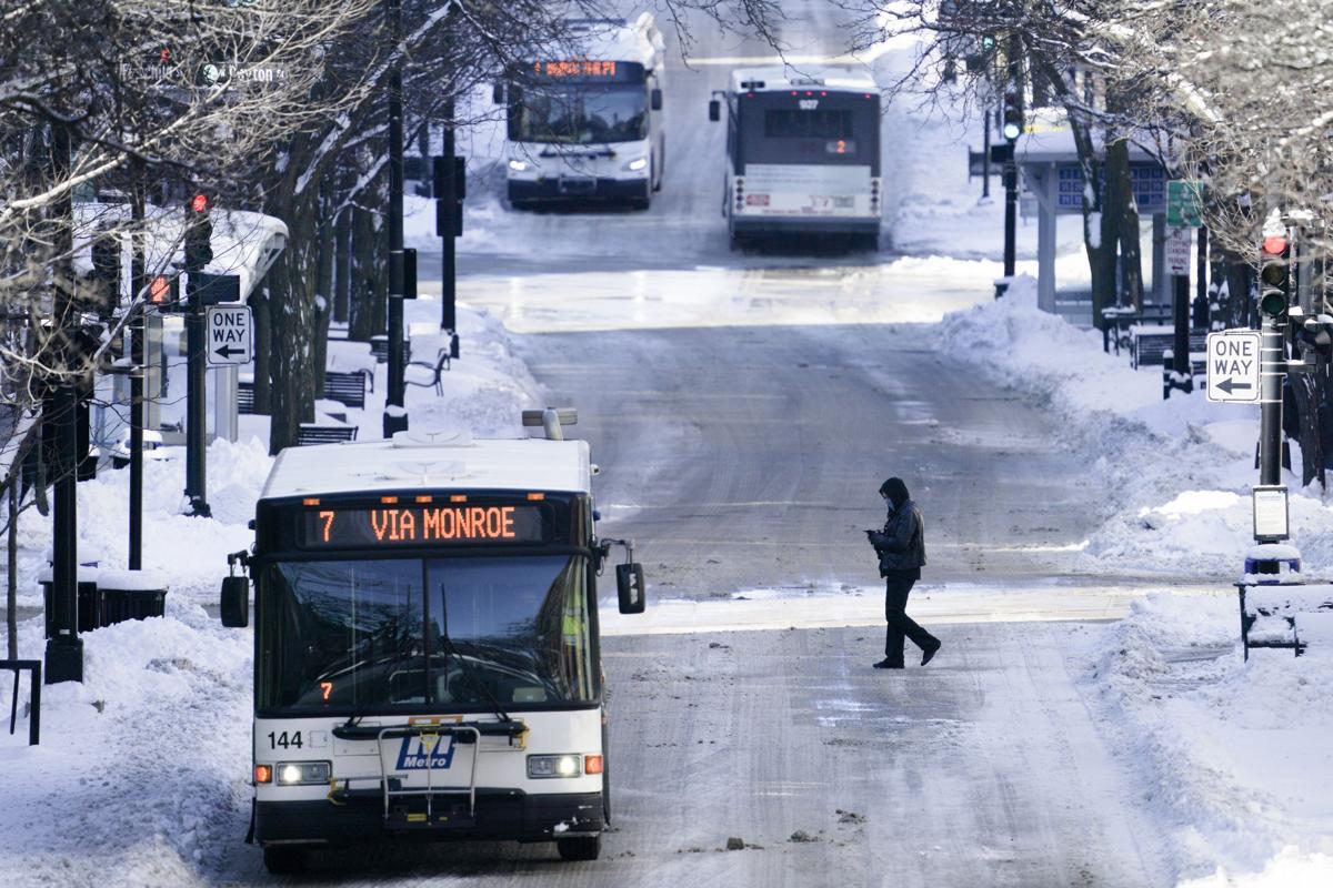
[[[1017,389],[1062,419],[1085,454],[1088,483],[1106,491],[1106,521],[1084,550],[1100,572],[1230,580],[1252,545],[1258,409],[1210,403],[1202,391],[1162,399],[1161,367],[1102,351],[1101,333],[1037,309],[1018,276],[1002,300],[948,316],[942,350]],[[1293,455],[1293,465],[1300,465]],[[1313,485],[1285,473],[1292,534],[1306,570],[1333,564],[1333,513]]]

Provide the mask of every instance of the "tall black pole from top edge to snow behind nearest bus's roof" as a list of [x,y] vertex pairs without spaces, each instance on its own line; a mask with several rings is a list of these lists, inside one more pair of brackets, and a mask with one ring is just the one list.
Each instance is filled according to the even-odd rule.
[[[403,8],[399,0],[384,0],[393,35],[392,52],[399,53],[403,35]],[[403,407],[403,57],[396,55],[389,75],[389,390],[384,407],[384,437],[405,431],[408,414]]]

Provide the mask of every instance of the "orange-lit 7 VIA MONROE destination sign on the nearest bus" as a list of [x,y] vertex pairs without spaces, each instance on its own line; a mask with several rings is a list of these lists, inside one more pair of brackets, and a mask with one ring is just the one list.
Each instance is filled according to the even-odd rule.
[[311,509],[304,513],[305,549],[541,543],[541,506],[435,506]]

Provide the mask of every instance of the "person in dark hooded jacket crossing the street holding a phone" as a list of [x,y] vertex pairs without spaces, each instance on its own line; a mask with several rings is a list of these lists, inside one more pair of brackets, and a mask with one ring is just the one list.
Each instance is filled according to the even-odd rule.
[[889,478],[880,485],[880,495],[889,506],[884,530],[865,531],[880,556],[880,576],[885,580],[884,616],[889,623],[884,659],[874,668],[901,670],[905,638],[921,648],[921,666],[925,666],[940,650],[940,639],[906,615],[908,592],[921,579],[925,566],[925,519],[901,478]]

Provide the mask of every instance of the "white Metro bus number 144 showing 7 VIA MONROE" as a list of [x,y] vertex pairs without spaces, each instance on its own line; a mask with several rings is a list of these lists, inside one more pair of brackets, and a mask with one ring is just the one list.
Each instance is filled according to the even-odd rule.
[[[547,439],[284,450],[256,507],[252,837],[272,872],[391,837],[555,841],[609,821],[588,445]],[[632,554],[631,554],[632,558]],[[621,612],[643,570],[616,568]],[[249,580],[223,583],[247,626]]]

